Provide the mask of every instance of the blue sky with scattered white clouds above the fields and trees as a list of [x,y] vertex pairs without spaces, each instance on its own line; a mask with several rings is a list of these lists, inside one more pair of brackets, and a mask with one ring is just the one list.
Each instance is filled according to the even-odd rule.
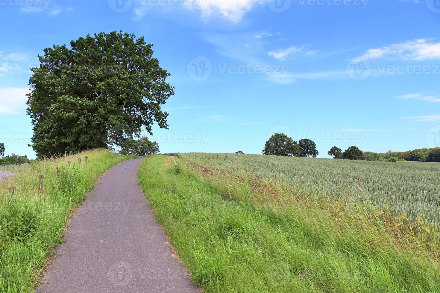
[[27,144],[29,67],[122,30],[171,73],[161,152],[261,153],[271,134],[386,152],[440,146],[440,0],[0,0],[0,141]]

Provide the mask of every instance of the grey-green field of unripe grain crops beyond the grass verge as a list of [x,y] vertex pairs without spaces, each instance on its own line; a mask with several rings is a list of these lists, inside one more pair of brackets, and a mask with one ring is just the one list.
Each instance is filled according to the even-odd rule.
[[203,164],[245,171],[271,182],[293,185],[299,192],[355,199],[383,205],[407,217],[429,220],[440,227],[440,163],[369,162],[341,159],[260,155],[184,153]]

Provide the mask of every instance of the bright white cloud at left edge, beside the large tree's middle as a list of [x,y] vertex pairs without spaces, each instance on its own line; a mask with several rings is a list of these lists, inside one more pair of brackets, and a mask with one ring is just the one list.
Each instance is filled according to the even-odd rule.
[[0,114],[25,113],[29,88],[0,87]]

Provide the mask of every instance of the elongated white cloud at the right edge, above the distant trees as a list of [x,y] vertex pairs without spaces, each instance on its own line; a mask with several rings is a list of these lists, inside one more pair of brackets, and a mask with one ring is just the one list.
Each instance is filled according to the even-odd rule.
[[409,40],[404,43],[392,44],[391,46],[369,49],[365,57],[398,58],[403,60],[426,60],[440,58],[440,42],[432,39]]

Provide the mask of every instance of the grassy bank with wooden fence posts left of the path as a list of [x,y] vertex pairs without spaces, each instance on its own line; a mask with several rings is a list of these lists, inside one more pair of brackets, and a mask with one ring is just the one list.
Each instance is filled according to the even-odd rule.
[[[88,168],[84,157],[88,156]],[[82,165],[78,159],[82,157]],[[32,164],[28,170],[0,183],[0,292],[28,292],[38,282],[48,253],[62,242],[71,213],[111,166],[130,157],[106,150],[82,152]],[[73,164],[69,165],[68,162]],[[60,172],[56,174],[56,167]],[[38,175],[44,174],[41,199]],[[30,186],[30,187],[29,187]],[[8,188],[16,187],[13,199]],[[29,188],[27,188],[29,187]]]

